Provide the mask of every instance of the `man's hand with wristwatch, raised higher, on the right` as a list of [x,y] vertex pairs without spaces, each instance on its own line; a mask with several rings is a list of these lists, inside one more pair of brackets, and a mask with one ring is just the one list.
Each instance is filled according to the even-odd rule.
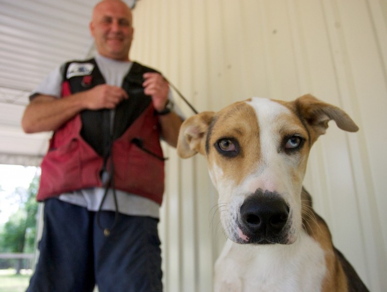
[[164,110],[169,92],[167,80],[159,73],[145,73],[143,77],[144,93],[152,97],[153,106],[157,111]]

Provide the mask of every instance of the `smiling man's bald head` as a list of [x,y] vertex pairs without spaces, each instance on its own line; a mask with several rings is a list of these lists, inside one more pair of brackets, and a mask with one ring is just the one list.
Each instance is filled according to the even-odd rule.
[[90,32],[98,53],[110,59],[129,61],[133,39],[132,13],[124,2],[99,2],[93,10]]

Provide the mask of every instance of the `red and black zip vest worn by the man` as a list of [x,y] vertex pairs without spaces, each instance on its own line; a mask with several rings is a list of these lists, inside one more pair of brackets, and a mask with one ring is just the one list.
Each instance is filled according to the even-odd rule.
[[[94,59],[76,62],[93,64],[89,75],[67,79],[71,63],[65,65],[62,98],[105,83]],[[110,137],[106,137],[106,127],[109,127],[106,123],[110,125],[107,109],[84,110],[53,133],[41,164],[38,200],[74,190],[103,187],[101,171],[104,166],[110,170],[110,162],[113,162],[115,189],[147,197],[161,205],[164,161],[158,115],[142,87],[145,72],[156,71],[133,63],[125,76],[122,87],[129,98],[116,107]],[[108,143],[111,153],[106,154]]]

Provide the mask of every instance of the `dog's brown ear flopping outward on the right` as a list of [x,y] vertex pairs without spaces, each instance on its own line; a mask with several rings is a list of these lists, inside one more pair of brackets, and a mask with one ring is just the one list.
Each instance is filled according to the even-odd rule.
[[306,119],[317,135],[325,134],[330,120],[334,120],[344,131],[356,132],[359,129],[342,109],[322,102],[312,95],[301,96],[294,102],[298,113]]

